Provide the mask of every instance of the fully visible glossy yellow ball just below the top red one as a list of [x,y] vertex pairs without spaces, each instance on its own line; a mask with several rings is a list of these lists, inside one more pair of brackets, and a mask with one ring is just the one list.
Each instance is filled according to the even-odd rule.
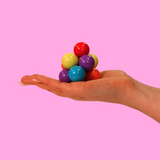
[[70,69],[78,64],[78,57],[73,53],[66,53],[62,57],[62,65],[66,69]]

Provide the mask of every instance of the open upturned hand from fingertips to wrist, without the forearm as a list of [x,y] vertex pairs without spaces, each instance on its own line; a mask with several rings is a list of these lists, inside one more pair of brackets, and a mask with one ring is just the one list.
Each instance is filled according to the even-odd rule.
[[[33,81],[33,80],[38,80]],[[135,81],[125,72],[108,70],[101,72],[101,78],[91,81],[65,83],[43,75],[34,74],[21,79],[25,85],[36,85],[58,96],[79,101],[104,101],[121,103],[131,94]]]

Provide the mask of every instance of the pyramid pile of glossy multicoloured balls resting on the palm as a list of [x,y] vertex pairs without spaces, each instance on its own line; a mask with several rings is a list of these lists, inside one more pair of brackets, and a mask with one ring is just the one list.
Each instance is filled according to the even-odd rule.
[[63,70],[59,73],[59,80],[70,83],[99,79],[98,58],[89,52],[88,44],[79,42],[74,46],[74,53],[66,53],[62,57]]

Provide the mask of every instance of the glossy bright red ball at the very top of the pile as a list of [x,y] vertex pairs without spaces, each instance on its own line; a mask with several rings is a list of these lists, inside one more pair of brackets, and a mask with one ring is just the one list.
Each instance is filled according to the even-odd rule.
[[74,46],[74,53],[78,57],[89,54],[89,51],[89,46],[85,42],[79,42]]

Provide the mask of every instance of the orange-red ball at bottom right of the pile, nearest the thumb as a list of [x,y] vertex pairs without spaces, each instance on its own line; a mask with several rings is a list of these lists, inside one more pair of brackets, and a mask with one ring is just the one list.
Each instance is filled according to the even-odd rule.
[[89,81],[89,80],[99,79],[100,77],[101,77],[100,72],[96,68],[93,68],[91,71],[86,73],[85,80]]

